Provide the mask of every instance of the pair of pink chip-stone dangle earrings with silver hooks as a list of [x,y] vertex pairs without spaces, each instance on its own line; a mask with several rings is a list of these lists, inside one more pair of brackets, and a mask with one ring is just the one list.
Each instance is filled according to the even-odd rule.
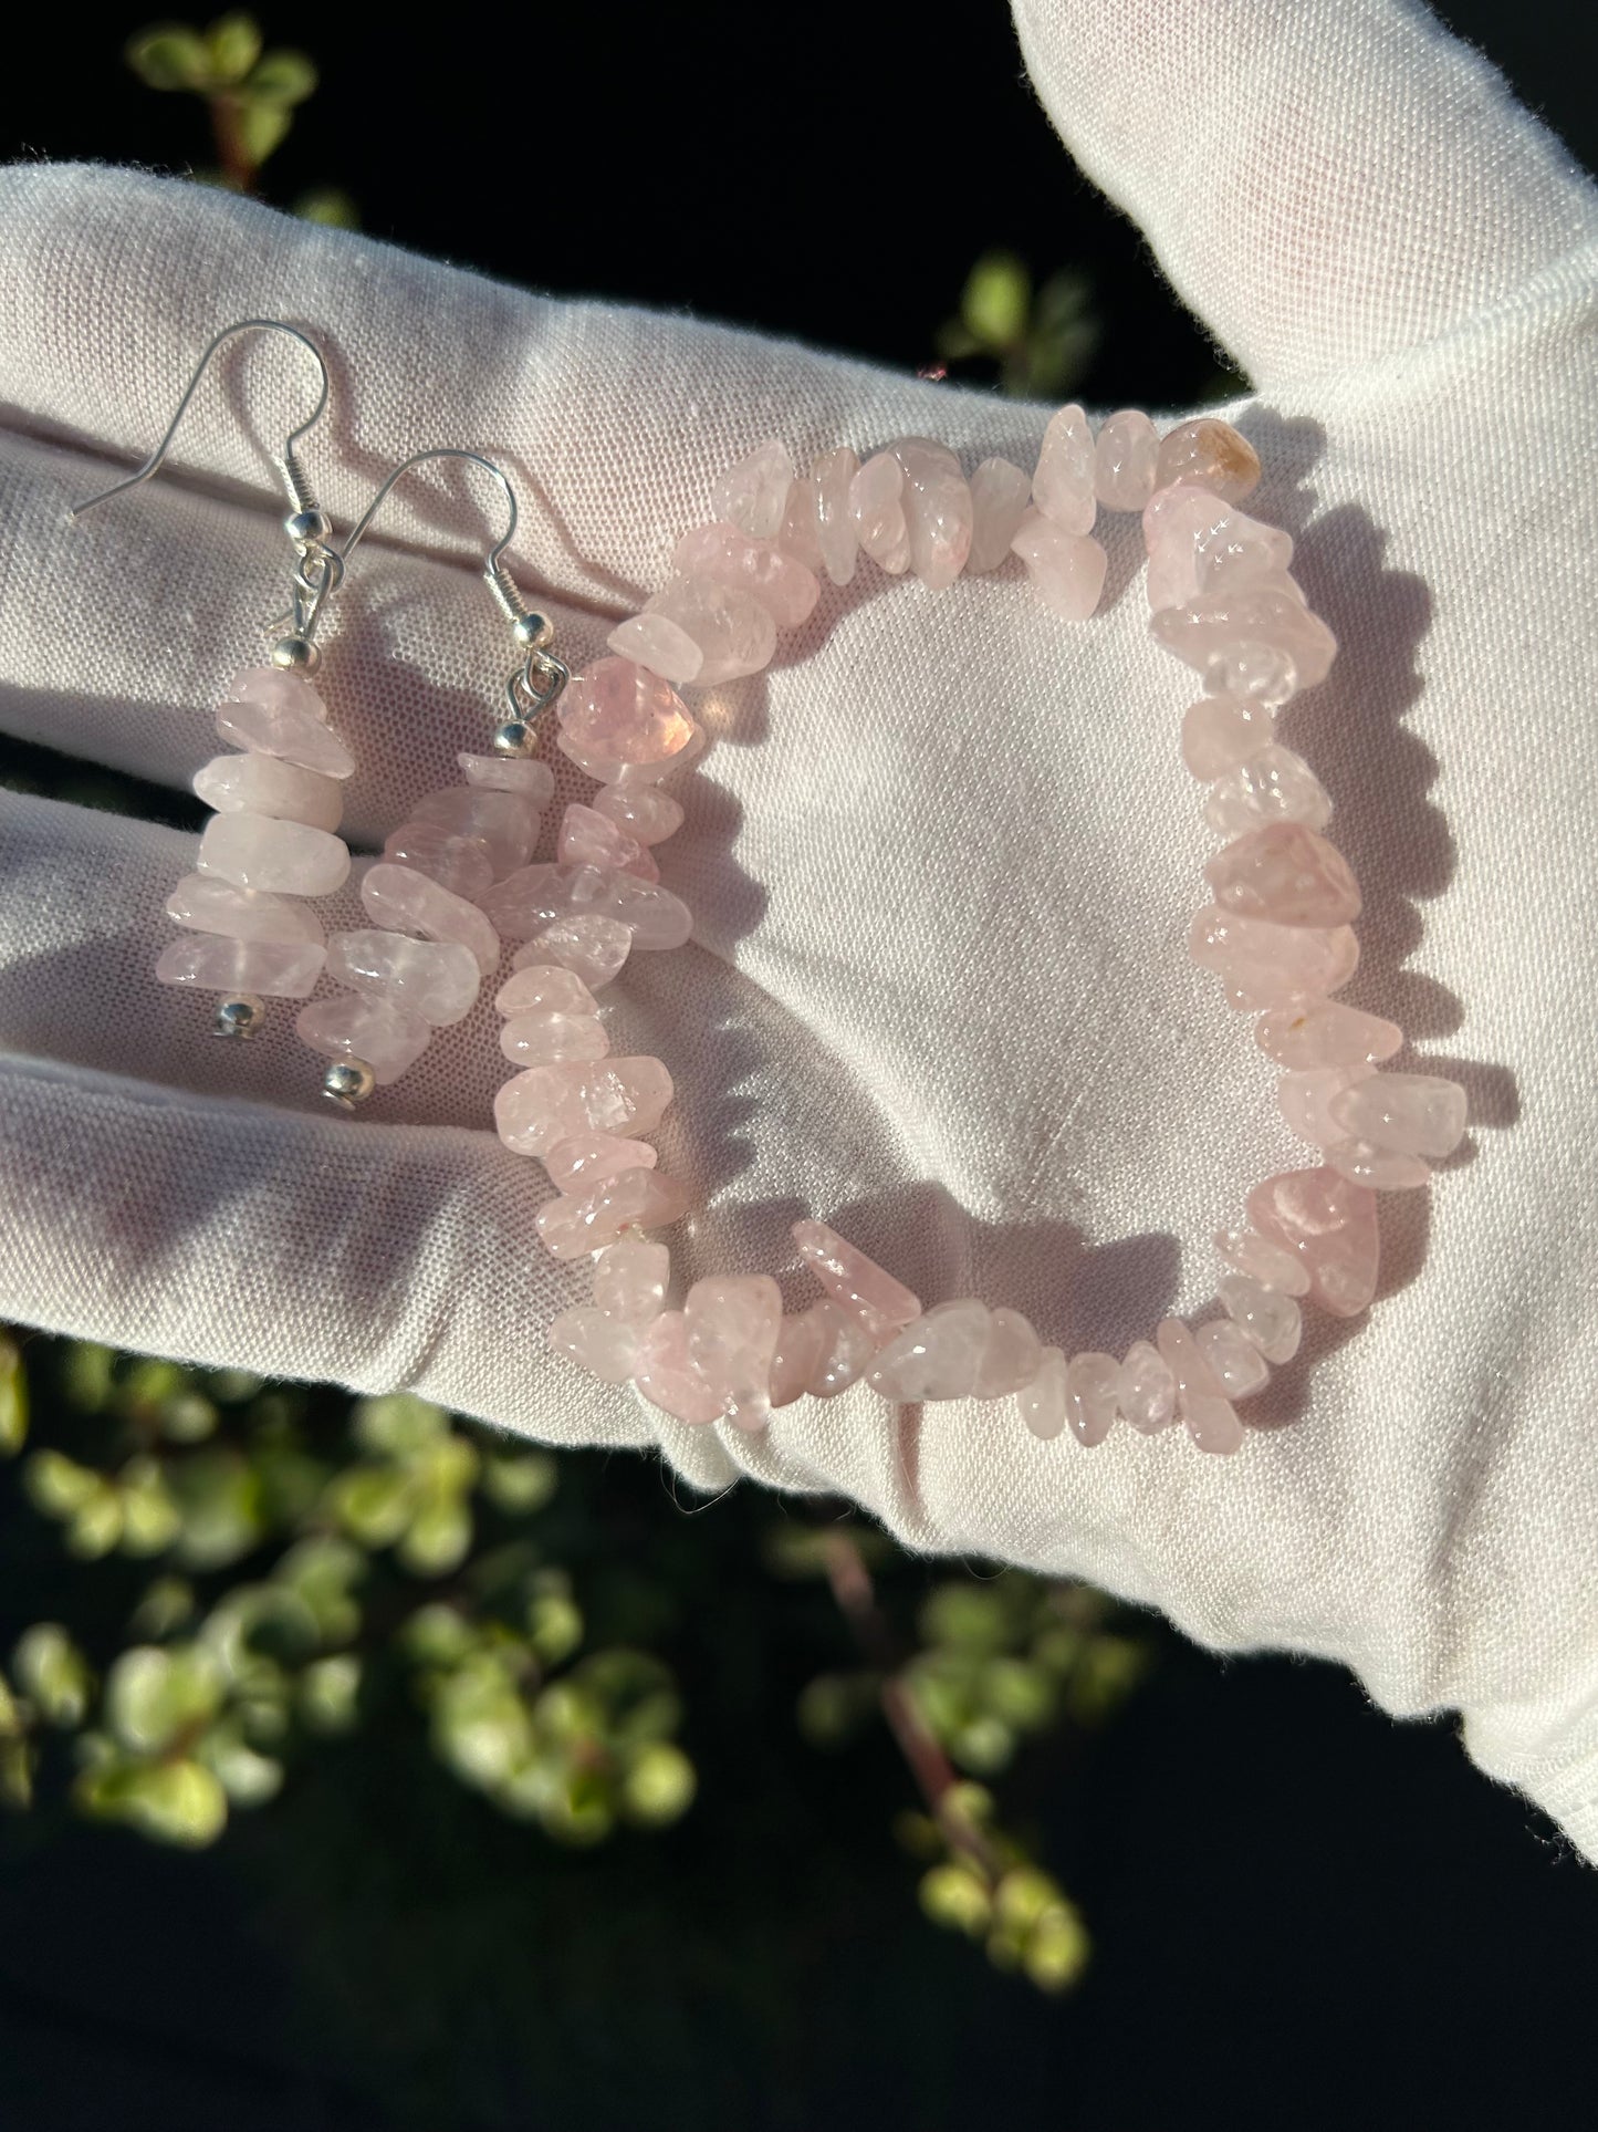
[[[471,1011],[482,976],[499,959],[499,938],[475,898],[526,863],[537,840],[539,810],[554,778],[531,755],[539,712],[565,687],[567,667],[550,652],[550,620],[526,608],[503,563],[516,533],[516,492],[477,452],[439,448],[403,461],[343,550],[332,546],[328,516],[313,501],[296,454],[326,409],[328,373],[315,343],[279,320],[226,326],[200,356],[145,465],[79,503],[70,516],[83,516],[160,469],[211,356],[241,333],[288,335],[311,354],[320,373],[311,414],[273,461],[290,501],[283,520],[294,550],[290,629],[273,646],[271,663],[239,674],[217,708],[217,733],[237,753],[213,757],[194,778],[196,793],[217,812],[200,840],[196,870],[166,902],[185,938],[162,951],[156,974],[168,985],[217,994],[213,1032],[249,1038],[266,1017],[268,998],[307,1000],[326,970],[349,998],[311,1002],[296,1028],[332,1062],[324,1094],[354,1109],[375,1085],[398,1079],[435,1028]],[[343,584],[347,559],[390,488],[430,458],[473,461],[505,490],[507,527],[486,559],[484,578],[520,652],[507,680],[509,716],[494,731],[492,753],[458,757],[464,787],[428,793],[388,838],[381,863],[362,881],[373,930],[328,940],[311,900],[337,891],[349,876],[349,851],[337,829],[343,782],[356,763],[309,680],[320,663],[315,635]]]

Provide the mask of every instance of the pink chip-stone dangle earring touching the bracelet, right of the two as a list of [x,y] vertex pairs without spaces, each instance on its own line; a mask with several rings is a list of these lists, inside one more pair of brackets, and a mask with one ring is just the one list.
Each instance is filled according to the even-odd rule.
[[484,561],[484,582],[509,623],[518,663],[505,682],[509,716],[486,755],[458,755],[464,782],[424,793],[360,883],[371,927],[328,940],[328,976],[343,996],[311,1000],[294,1023],[300,1040],[332,1064],[322,1094],[354,1111],[375,1087],[398,1081],[433,1032],[471,1013],[482,981],[499,964],[499,932],[479,904],[524,868],[539,838],[554,772],[535,763],[537,718],[567,682],[554,657],[554,623],[528,608],[501,561],[516,537],[516,490],[492,458],[439,446],[415,452],[388,475],[343,544],[360,546],[390,488],[430,458],[464,458],[505,490],[507,524]]

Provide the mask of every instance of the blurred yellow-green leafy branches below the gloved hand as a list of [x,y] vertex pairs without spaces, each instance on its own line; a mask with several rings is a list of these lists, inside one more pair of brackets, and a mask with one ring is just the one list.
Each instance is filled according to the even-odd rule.
[[[81,1565],[55,1584],[62,1618],[9,1633],[2,1804],[66,1797],[200,1848],[366,1727],[424,1738],[565,1848],[695,1804],[673,1561],[575,1546],[552,1454],[411,1394],[6,1337],[0,1445],[15,1516]],[[1040,1989],[1072,1985],[1085,1925],[974,1778],[1099,1725],[1144,1646],[1082,1586],[1004,1571],[927,1588],[852,1522],[773,1518],[763,1561],[778,1610],[831,1586],[833,1663],[801,1689],[797,1729],[842,1748],[886,1721],[920,1791],[897,1836],[925,1915]]]

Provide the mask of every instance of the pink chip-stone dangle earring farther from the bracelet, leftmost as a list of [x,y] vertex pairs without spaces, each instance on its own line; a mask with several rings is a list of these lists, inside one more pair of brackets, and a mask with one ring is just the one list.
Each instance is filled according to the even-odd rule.
[[72,522],[160,469],[211,356],[239,333],[288,335],[315,362],[322,388],[273,461],[290,501],[283,520],[294,550],[290,633],[273,646],[268,665],[234,676],[217,708],[217,733],[241,753],[217,755],[194,776],[194,791],[217,812],[200,838],[196,870],[166,898],[166,915],[185,927],[185,938],[173,940],[156,962],[164,985],[219,996],[215,1036],[254,1036],[266,1017],[266,998],[307,998],[326,959],[322,925],[307,900],[330,893],[349,874],[349,851],[335,829],[343,812],[341,785],[356,765],[328,729],[322,697],[307,680],[320,657],[317,620],[343,578],[343,561],[328,546],[332,529],[296,456],[300,437],[328,405],[328,369],[317,345],[277,318],[224,326],[196,362],[145,465],[68,512]]

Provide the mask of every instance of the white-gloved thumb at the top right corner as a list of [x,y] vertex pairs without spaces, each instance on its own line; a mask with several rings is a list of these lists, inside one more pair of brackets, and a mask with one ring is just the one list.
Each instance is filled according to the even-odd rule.
[[1072,156],[1261,388],[1579,286],[1598,194],[1415,0],[1012,6]]

